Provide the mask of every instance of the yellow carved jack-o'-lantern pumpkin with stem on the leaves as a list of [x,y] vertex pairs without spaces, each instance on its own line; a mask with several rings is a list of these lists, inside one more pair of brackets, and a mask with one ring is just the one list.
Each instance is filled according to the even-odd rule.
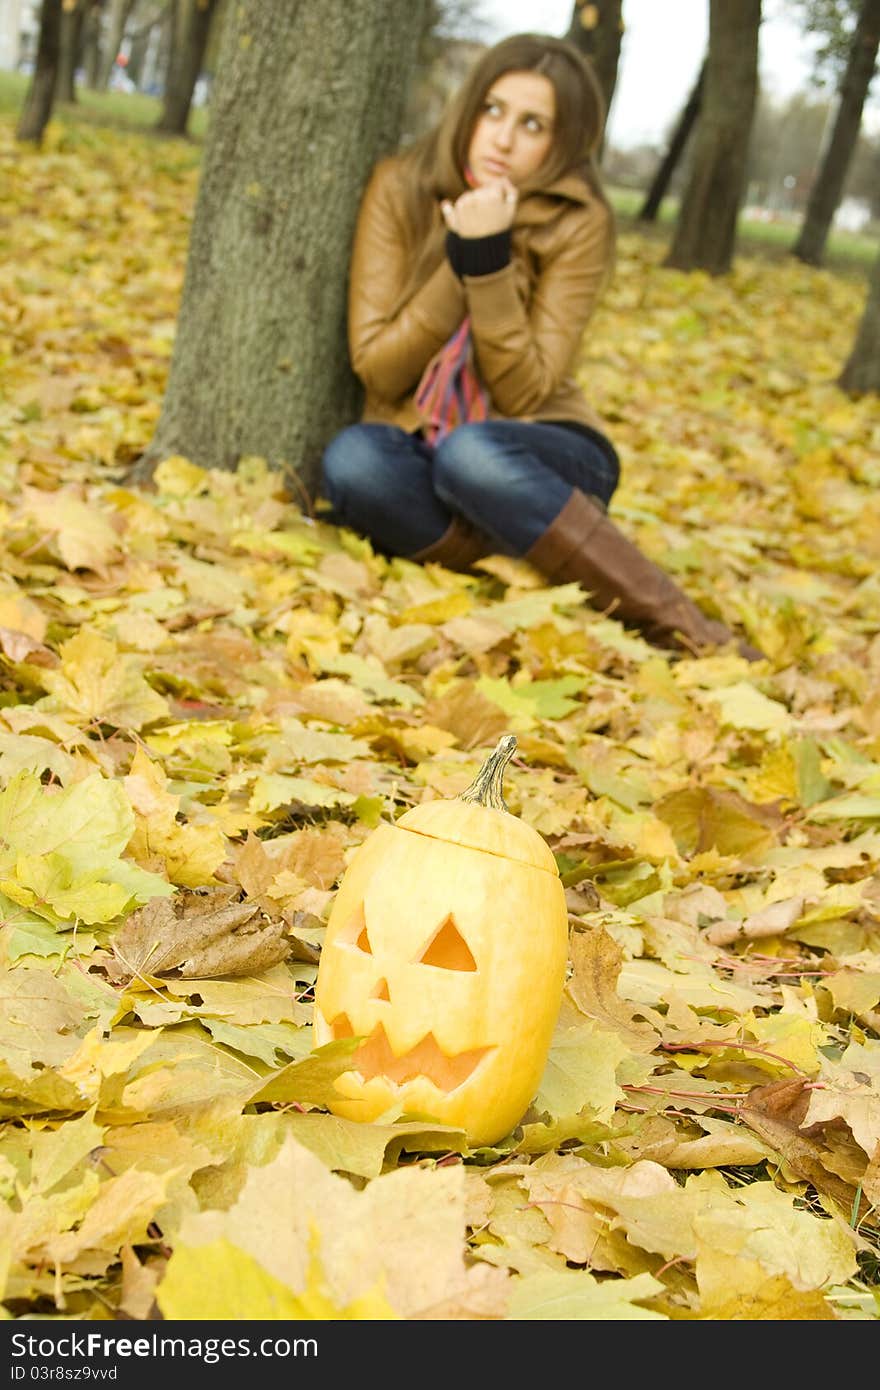
[[334,901],[316,983],[321,1045],[361,1041],[331,1109],[430,1116],[491,1144],[523,1118],[546,1062],[567,912],[542,837],[502,796],[502,738],[456,799],[363,842]]

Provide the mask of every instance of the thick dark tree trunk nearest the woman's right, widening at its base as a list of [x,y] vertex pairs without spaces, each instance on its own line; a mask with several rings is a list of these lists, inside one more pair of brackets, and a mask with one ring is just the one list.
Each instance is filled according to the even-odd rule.
[[665,265],[730,270],[758,96],[760,0],[709,0],[709,53],[688,185]]

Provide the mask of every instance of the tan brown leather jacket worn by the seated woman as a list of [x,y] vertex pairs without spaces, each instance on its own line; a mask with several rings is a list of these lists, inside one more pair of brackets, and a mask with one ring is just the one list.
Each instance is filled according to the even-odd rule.
[[608,274],[606,207],[580,177],[566,175],[520,200],[503,270],[460,281],[443,259],[400,307],[413,264],[403,177],[399,156],[377,165],[355,234],[349,352],[366,388],[363,420],[417,430],[421,374],[470,314],[495,418],[571,420],[605,432],[571,373]]

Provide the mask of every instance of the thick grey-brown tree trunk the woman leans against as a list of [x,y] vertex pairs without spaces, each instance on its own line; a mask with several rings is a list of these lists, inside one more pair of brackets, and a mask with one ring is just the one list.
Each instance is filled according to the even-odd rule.
[[325,445],[360,410],[352,236],[373,164],[399,139],[423,10],[229,8],[168,385],[133,482],[170,455],[214,468],[257,455],[314,495]]

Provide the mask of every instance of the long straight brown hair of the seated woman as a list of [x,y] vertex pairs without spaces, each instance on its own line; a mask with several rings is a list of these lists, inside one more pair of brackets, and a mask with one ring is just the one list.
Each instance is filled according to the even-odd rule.
[[[487,49],[438,125],[406,153],[412,175],[406,188],[406,222],[414,231],[413,250],[424,245],[437,224],[439,200],[456,199],[467,188],[464,168],[470,139],[492,83],[505,72],[539,72],[552,82],[556,95],[553,143],[521,192],[546,188],[563,174],[580,174],[610,213],[595,165],[605,128],[605,100],[589,61],[564,39],[548,33],[514,33]],[[438,259],[439,245],[425,247],[425,253]]]

